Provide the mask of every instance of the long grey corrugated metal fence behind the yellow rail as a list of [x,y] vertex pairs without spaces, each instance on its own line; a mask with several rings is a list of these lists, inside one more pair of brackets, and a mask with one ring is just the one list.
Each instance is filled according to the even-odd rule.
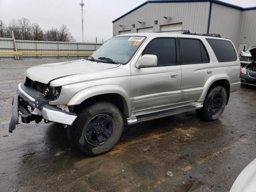
[[[52,42],[16,40],[18,52],[93,52],[102,46],[102,43],[80,42]],[[0,52],[14,51],[12,38],[0,38]],[[64,57],[68,55],[43,55],[45,58]],[[84,55],[69,55],[70,57],[84,57]],[[39,55],[23,55],[23,58],[38,58]],[[0,55],[0,59],[14,59],[12,55]]]

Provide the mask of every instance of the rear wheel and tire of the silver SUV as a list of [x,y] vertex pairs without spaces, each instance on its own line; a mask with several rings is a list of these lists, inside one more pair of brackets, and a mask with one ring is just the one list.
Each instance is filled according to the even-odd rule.
[[196,114],[203,120],[217,120],[223,113],[227,102],[227,93],[224,87],[216,86],[208,91],[203,108],[196,110]]

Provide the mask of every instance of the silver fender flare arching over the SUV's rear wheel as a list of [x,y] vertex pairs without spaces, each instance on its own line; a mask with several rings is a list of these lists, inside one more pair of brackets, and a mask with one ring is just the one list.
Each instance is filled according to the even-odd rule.
[[198,102],[204,102],[204,99],[206,97],[206,94],[208,93],[208,90],[210,89],[210,86],[218,80],[226,80],[228,81],[229,85],[231,84],[230,77],[227,74],[216,74],[211,76],[210,78],[208,78],[208,80],[204,84],[204,90],[200,98],[198,99]]

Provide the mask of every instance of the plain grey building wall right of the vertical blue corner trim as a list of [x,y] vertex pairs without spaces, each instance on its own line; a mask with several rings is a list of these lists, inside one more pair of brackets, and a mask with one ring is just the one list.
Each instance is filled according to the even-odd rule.
[[212,3],[210,33],[218,33],[232,40],[238,48],[242,11],[236,8]]

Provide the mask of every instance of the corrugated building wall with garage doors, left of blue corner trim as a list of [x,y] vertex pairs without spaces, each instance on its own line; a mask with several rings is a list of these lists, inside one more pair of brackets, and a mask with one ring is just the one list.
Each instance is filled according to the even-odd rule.
[[[153,27],[154,32],[159,32],[161,25],[180,22],[182,22],[182,30],[206,33],[209,9],[210,2],[148,3],[114,22],[113,36],[119,35],[123,30],[132,30],[132,33],[136,33],[138,28],[145,27]],[[165,19],[164,16],[172,18]],[[158,20],[158,24],[154,24],[154,20]],[[134,28],[132,24],[135,24]]]

